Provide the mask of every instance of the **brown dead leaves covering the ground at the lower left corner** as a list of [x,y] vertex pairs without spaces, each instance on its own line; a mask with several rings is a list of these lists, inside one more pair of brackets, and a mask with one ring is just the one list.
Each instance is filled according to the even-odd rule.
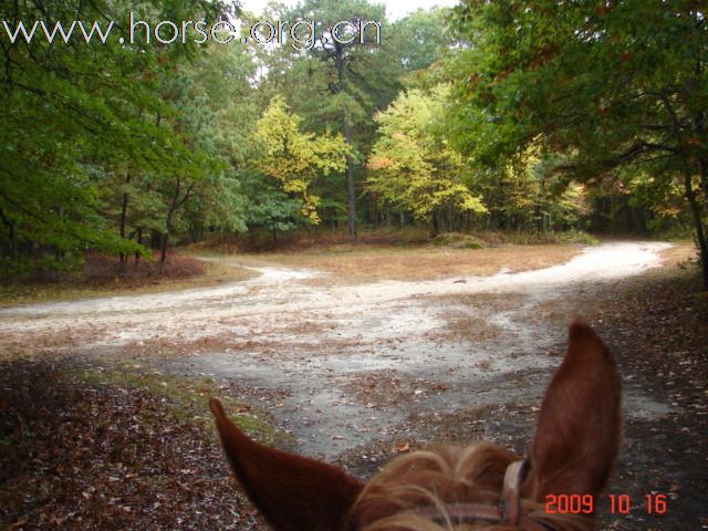
[[266,529],[204,421],[72,368],[0,364],[1,529]]

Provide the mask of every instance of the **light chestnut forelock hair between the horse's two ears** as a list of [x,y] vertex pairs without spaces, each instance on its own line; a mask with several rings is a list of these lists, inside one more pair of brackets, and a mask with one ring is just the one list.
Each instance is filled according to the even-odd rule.
[[[347,531],[511,531],[501,523],[459,522],[448,508],[460,503],[498,507],[507,467],[518,456],[490,442],[433,447],[400,456],[366,483],[352,507]],[[522,500],[522,510],[558,531],[589,531],[593,521],[546,514],[544,504]],[[439,517],[420,514],[435,508]]]

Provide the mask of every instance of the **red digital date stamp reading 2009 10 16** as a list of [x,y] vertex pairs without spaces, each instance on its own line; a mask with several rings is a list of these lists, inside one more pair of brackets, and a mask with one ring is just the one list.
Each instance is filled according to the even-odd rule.
[[[612,514],[628,514],[634,509],[629,494],[607,494]],[[666,494],[646,494],[642,508],[647,514],[666,514],[668,501]],[[546,514],[592,514],[595,500],[591,494],[548,494],[545,497]]]

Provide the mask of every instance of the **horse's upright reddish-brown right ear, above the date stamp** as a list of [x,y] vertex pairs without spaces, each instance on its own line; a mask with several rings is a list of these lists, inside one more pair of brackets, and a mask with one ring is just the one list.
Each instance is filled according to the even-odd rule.
[[541,404],[530,496],[600,493],[620,449],[620,375],[610,351],[590,326],[574,321],[565,360]]

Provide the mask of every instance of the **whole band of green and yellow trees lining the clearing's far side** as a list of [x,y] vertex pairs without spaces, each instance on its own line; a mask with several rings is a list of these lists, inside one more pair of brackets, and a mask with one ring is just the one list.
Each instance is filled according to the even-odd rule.
[[[19,30],[125,32],[128,11],[240,29],[229,44]],[[700,2],[468,0],[389,21],[367,0],[46,0],[4,2],[0,20],[3,267],[165,260],[174,241],[313,223],[353,241],[383,222],[690,227],[708,285]],[[317,31],[263,44],[256,20]]]

